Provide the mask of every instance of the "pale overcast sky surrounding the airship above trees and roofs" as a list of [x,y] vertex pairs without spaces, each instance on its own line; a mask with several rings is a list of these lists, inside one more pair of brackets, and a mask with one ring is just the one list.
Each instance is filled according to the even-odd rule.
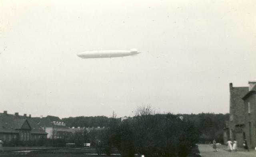
[[[254,0],[0,1],[0,112],[229,112],[256,80]],[[81,59],[138,48],[136,57]]]

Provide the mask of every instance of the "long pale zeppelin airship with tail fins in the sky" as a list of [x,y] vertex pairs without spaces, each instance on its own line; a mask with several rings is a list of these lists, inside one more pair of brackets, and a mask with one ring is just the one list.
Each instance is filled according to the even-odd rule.
[[137,55],[137,49],[130,50],[100,50],[100,51],[84,51],[77,54],[78,57],[86,58],[112,58]]

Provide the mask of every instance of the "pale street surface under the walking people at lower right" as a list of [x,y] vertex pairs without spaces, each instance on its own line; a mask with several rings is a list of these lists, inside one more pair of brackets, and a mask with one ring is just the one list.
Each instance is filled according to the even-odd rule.
[[198,149],[202,157],[256,157],[254,149],[247,152],[243,148],[238,148],[237,152],[229,152],[226,145],[218,145],[217,152],[213,151],[212,145],[209,144],[198,144]]

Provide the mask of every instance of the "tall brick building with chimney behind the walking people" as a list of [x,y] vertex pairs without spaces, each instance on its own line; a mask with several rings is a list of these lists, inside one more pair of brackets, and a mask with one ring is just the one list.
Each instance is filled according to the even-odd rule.
[[249,81],[248,86],[234,87],[229,84],[230,117],[224,128],[224,142],[229,139],[238,141],[243,146],[247,139],[249,147],[256,147],[256,81]]

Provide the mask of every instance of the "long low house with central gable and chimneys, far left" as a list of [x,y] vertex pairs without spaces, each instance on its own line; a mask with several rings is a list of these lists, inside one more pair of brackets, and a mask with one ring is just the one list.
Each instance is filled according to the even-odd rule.
[[31,118],[31,115],[20,116],[0,113],[0,139],[5,142],[12,140],[29,141],[46,138],[47,133]]

